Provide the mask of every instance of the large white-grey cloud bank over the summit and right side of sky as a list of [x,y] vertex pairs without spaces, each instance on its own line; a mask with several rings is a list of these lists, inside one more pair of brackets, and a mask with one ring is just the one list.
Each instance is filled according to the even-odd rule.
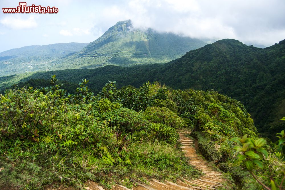
[[102,9],[102,23],[94,27],[131,19],[137,28],[268,45],[284,39],[284,9],[281,0],[131,0]]

